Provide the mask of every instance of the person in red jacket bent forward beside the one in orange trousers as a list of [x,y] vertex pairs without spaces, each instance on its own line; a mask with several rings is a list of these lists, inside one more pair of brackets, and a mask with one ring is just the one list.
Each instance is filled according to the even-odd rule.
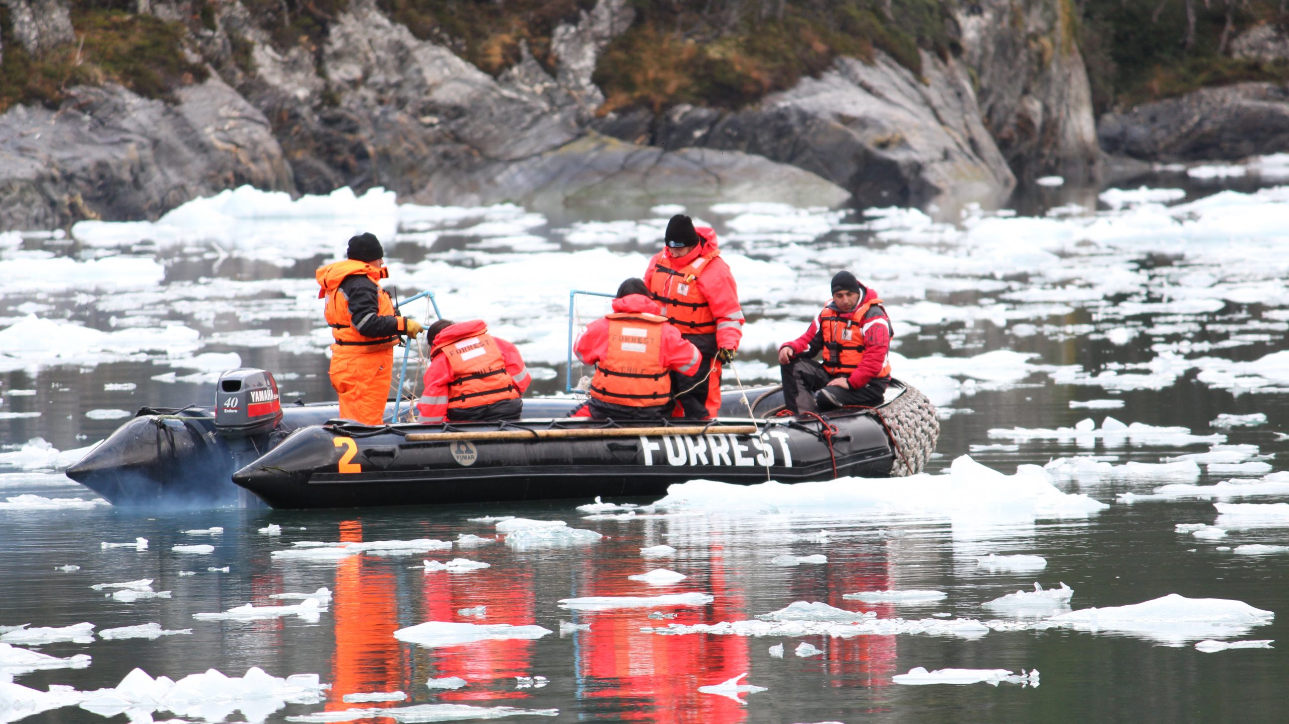
[[425,332],[429,368],[416,412],[422,423],[518,420],[519,397],[532,383],[513,344],[487,332],[482,319],[440,319]]

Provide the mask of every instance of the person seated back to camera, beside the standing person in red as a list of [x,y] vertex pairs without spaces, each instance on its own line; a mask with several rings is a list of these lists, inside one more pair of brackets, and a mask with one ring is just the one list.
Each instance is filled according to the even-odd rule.
[[614,312],[592,322],[574,344],[583,365],[594,365],[586,410],[575,416],[661,420],[672,412],[672,372],[695,376],[703,354],[660,314],[643,280],[617,287]]

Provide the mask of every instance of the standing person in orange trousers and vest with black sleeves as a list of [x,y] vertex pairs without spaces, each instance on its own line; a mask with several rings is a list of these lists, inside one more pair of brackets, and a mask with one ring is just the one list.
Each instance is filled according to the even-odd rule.
[[331,326],[331,386],[340,395],[340,417],[379,425],[393,376],[393,347],[398,335],[415,338],[422,326],[394,314],[389,292],[380,280],[389,276],[384,249],[371,233],[349,240],[344,262],[316,272],[318,299],[326,298],[326,323]]

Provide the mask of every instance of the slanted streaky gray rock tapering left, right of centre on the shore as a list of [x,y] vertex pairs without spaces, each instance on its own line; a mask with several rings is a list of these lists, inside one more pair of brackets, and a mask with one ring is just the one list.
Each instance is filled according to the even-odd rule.
[[[922,68],[919,79],[880,52],[873,64],[839,58],[746,111],[673,108],[654,143],[764,156],[871,205],[1004,197],[1016,178],[980,121],[965,70],[926,52]],[[629,138],[629,120],[611,121]]]

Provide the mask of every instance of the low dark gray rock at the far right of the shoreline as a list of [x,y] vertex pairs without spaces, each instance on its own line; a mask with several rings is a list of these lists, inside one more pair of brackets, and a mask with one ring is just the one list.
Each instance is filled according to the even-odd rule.
[[1150,161],[1235,160],[1289,151],[1289,88],[1241,82],[1106,113],[1107,153]]

